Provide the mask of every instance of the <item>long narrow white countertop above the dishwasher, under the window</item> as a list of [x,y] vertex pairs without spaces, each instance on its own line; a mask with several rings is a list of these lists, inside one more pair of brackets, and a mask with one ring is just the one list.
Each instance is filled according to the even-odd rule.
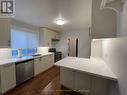
[[43,56],[47,56],[47,55],[51,55],[53,53],[46,53],[46,54],[41,54],[41,56],[25,56],[25,57],[21,57],[21,58],[12,58],[12,59],[3,59],[0,60],[0,66],[1,65],[6,65],[6,64],[12,64],[12,63],[16,63],[16,62],[21,62],[21,61],[26,61],[26,60],[30,60],[30,59],[35,59],[35,58],[39,58],[39,57],[43,57]]

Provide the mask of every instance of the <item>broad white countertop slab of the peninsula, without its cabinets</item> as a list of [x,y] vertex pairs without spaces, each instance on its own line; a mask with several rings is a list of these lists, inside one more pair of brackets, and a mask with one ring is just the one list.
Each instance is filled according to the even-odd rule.
[[56,66],[65,67],[73,70],[83,71],[85,73],[102,77],[109,80],[117,80],[111,69],[99,58],[76,58],[66,57],[55,63]]

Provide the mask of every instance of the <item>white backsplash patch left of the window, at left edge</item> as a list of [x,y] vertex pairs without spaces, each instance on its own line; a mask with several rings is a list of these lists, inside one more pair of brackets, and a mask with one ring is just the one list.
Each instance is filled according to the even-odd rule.
[[11,58],[11,48],[0,48],[0,60]]

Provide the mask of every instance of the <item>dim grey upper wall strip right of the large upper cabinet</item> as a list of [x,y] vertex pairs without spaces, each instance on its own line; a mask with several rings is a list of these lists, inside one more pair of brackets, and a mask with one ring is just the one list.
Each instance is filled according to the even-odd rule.
[[127,0],[125,0],[122,12],[118,14],[117,36],[127,36]]

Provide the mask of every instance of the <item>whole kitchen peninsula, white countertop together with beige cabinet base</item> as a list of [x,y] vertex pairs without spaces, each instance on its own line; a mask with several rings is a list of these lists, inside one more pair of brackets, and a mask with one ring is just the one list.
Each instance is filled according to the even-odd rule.
[[117,77],[99,58],[67,57],[55,63],[60,66],[60,83],[83,95],[109,95],[111,82]]

